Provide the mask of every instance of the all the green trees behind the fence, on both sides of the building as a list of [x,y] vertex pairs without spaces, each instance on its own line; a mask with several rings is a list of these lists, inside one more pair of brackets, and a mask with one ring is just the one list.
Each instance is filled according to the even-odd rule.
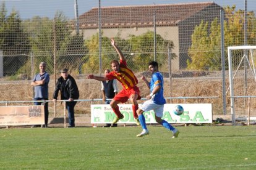
[[[224,42],[227,46],[244,44],[244,11],[235,10],[236,7],[224,7]],[[254,12],[247,14],[247,42],[255,44],[256,20]],[[55,36],[54,36],[55,34]],[[56,12],[54,21],[45,17],[33,17],[21,20],[19,12],[12,10],[7,15],[5,4],[0,6],[0,49],[4,52],[4,71],[7,73],[30,73],[30,57],[34,56],[35,69],[38,63],[48,63],[48,71],[53,73],[54,47],[57,68],[69,67],[77,73],[98,73],[99,68],[99,38],[98,34],[90,39],[83,39],[83,34],[74,33],[74,28],[62,12]],[[54,38],[56,44],[54,44]],[[191,70],[221,70],[220,20],[213,22],[202,21],[195,27],[192,34],[192,45],[189,48],[190,60],[187,69]],[[119,34],[115,38],[129,61],[129,67],[142,71],[147,69],[149,60],[154,57],[153,32],[130,35],[121,39]],[[156,35],[157,61],[161,65],[166,63],[168,48],[173,49],[173,41],[165,40]],[[101,41],[102,70],[109,68],[109,62],[118,59],[116,52],[109,42],[109,38],[102,37]],[[135,55],[131,55],[131,54]],[[227,54],[226,54],[227,55]],[[175,55],[173,57],[176,57]],[[226,56],[226,60],[228,57]],[[239,58],[237,58],[239,60]],[[12,71],[14,70],[14,71]],[[38,71],[38,70],[35,70]]]

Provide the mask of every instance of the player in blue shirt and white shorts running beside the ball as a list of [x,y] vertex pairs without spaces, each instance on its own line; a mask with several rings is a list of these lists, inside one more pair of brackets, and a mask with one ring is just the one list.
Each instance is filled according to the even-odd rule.
[[138,134],[137,137],[142,137],[149,134],[143,112],[153,110],[155,112],[156,122],[161,124],[166,129],[169,129],[169,131],[172,131],[173,138],[175,138],[179,135],[179,131],[171,126],[171,124],[169,124],[167,121],[161,119],[163,117],[164,104],[166,103],[163,95],[163,76],[158,71],[157,62],[149,62],[148,67],[152,74],[151,81],[149,83],[145,76],[142,76],[142,79],[147,84],[147,87],[150,89],[151,93],[150,95],[147,95],[148,100],[140,105],[139,109],[137,110],[139,121],[142,126],[142,132]]

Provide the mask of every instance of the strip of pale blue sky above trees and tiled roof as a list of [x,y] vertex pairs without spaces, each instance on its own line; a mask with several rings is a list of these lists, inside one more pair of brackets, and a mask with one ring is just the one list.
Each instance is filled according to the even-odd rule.
[[[8,12],[12,9],[19,11],[22,19],[33,16],[54,18],[56,11],[62,11],[68,18],[74,18],[75,0],[0,0],[5,2]],[[207,0],[101,0],[101,7],[105,6],[137,6],[153,4],[177,4],[183,2],[211,2]],[[245,0],[216,0],[220,6],[236,5],[239,9],[244,9]],[[98,7],[97,0],[77,0],[79,15]],[[247,9],[256,10],[256,0],[247,0]]]

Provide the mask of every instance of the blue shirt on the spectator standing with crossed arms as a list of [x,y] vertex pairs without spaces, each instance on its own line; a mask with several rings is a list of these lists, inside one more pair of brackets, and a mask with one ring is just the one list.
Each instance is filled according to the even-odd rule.
[[49,84],[49,75],[48,73],[43,73],[43,75],[40,75],[40,73],[36,74],[32,81],[40,81],[45,79],[45,84],[41,86],[34,86],[35,91],[35,98],[45,98],[48,99],[48,84]]

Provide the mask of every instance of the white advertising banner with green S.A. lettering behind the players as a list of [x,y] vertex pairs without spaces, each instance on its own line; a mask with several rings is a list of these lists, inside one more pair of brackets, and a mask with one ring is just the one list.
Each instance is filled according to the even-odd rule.
[[[180,116],[174,114],[176,105],[184,108],[184,113]],[[135,123],[132,114],[132,105],[118,105],[123,119],[117,123]],[[153,110],[145,111],[146,123],[156,123]],[[110,105],[91,105],[91,123],[112,123],[116,117]],[[168,123],[212,123],[211,103],[189,103],[189,104],[165,104],[163,119]]]

